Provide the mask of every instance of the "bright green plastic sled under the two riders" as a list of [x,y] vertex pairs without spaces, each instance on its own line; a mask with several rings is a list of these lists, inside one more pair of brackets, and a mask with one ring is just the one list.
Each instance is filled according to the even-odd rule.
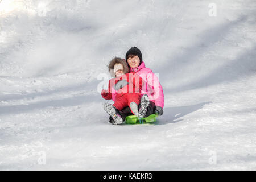
[[158,114],[151,114],[150,116],[146,118],[137,118],[136,115],[129,115],[125,118],[126,124],[145,124],[145,123],[154,123],[156,122],[156,118],[158,117]]

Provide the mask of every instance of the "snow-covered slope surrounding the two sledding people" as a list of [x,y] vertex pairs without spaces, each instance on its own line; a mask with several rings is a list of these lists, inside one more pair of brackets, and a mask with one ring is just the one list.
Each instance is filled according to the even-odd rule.
[[[0,1],[0,169],[255,170],[255,10]],[[102,109],[100,74],[132,46],[163,86],[156,125],[110,125]]]

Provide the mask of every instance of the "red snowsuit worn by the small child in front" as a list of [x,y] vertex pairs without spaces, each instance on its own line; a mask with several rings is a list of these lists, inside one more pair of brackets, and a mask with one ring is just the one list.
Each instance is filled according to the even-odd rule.
[[109,88],[108,90],[102,90],[101,96],[105,98],[105,100],[111,100],[111,90],[114,87],[117,95],[113,106],[118,110],[122,110],[130,106],[131,102],[135,102],[139,105],[141,102],[140,92],[143,85],[144,81],[137,73],[126,73],[125,75],[109,80]]

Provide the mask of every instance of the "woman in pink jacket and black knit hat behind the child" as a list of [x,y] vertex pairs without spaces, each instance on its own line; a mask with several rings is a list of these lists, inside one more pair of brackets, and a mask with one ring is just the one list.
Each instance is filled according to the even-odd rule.
[[[142,94],[147,94],[150,100],[150,104],[146,109],[142,108],[145,112],[144,117],[148,117],[150,114],[157,113],[159,116],[163,114],[164,106],[164,94],[163,88],[160,85],[158,77],[152,72],[151,69],[145,67],[145,63],[142,60],[142,53],[137,47],[131,47],[126,53],[126,62],[129,65],[129,73],[137,73],[146,84],[142,88]],[[116,94],[113,93],[114,97]],[[141,109],[141,104],[138,109]],[[133,115],[129,107],[125,107],[123,110],[119,111],[123,121],[128,115]],[[112,122],[112,118],[109,118],[109,122]]]

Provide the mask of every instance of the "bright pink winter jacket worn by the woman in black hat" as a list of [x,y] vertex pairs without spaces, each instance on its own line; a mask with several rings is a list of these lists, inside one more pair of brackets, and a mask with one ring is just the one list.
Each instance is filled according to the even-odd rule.
[[[137,68],[130,68],[130,73],[137,73],[145,82],[142,86],[141,93],[147,94],[150,101],[154,102],[156,106],[163,108],[164,106],[164,95],[163,88],[158,80],[158,77],[152,72],[151,69],[145,67],[145,63],[142,61],[141,65]],[[112,89],[112,100],[115,101],[117,92]]]

